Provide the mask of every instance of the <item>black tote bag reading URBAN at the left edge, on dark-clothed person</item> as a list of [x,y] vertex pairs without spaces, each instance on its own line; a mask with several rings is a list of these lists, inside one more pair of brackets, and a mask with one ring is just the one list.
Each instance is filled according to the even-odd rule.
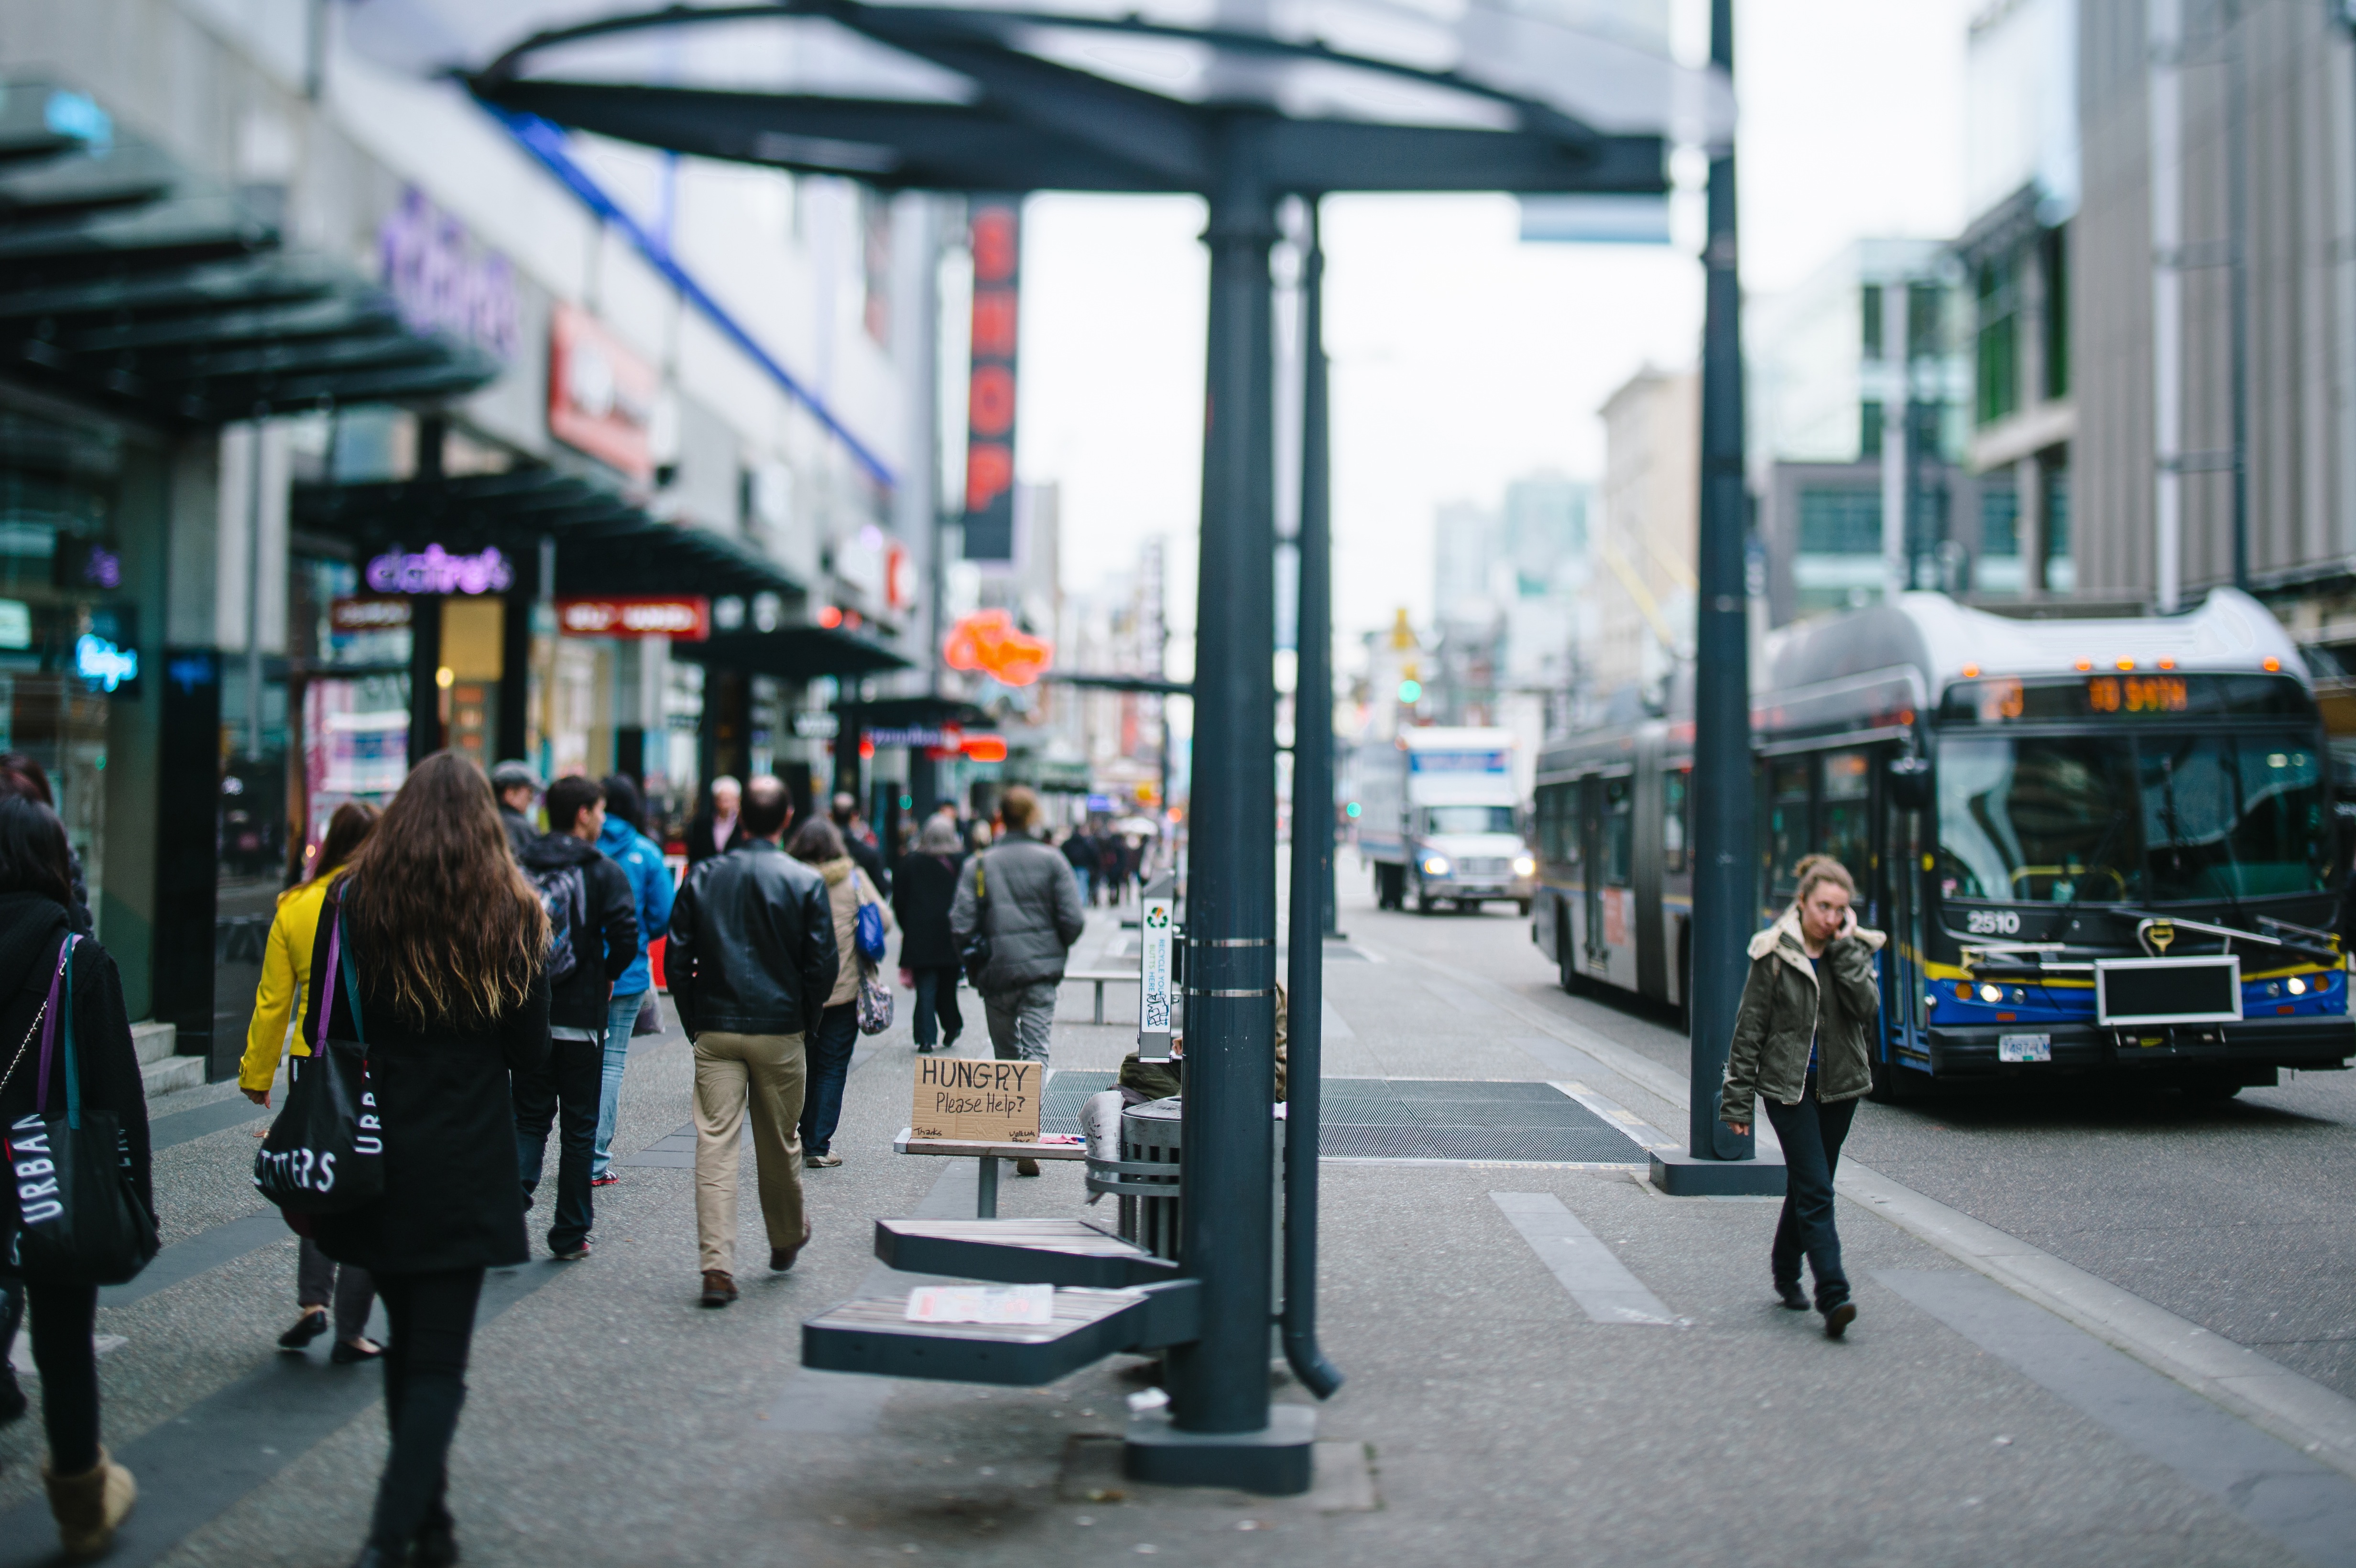
[[[82,1109],[82,1071],[73,1052],[73,944],[66,937],[49,977],[40,1024],[40,1090],[33,1114],[7,1130],[16,1182],[16,1271],[57,1285],[120,1285],[155,1257],[155,1220],[132,1187],[130,1140],[113,1111]],[[64,991],[64,1003],[59,1001]],[[64,1017],[64,1029],[59,1029]],[[64,1034],[64,1050],[59,1050]],[[66,1114],[42,1116],[49,1074],[61,1067]]]

